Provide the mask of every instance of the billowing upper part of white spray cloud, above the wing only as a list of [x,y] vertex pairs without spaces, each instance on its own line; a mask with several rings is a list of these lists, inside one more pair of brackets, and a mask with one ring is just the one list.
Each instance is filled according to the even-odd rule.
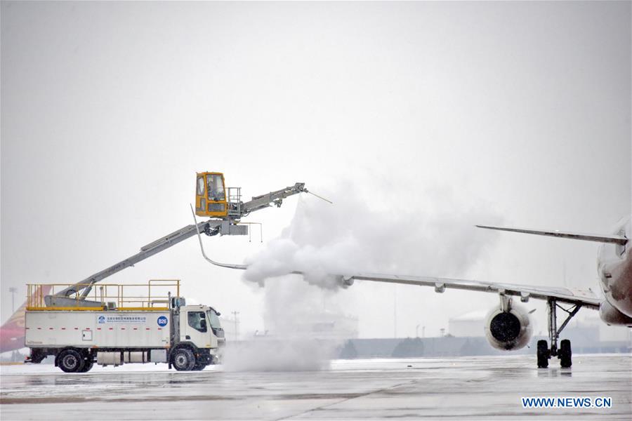
[[482,206],[459,203],[449,189],[425,192],[414,208],[402,201],[382,209],[375,197],[341,190],[346,194],[334,205],[301,199],[281,236],[246,259],[244,279],[263,286],[265,279],[298,270],[308,283],[337,288],[328,274],[462,275],[491,238],[478,235],[474,225],[500,221]]

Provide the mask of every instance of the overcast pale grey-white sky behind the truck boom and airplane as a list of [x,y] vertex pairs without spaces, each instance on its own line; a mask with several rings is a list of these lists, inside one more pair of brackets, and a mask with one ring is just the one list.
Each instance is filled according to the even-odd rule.
[[[459,260],[474,241],[488,246],[466,267],[448,257],[428,275],[561,286],[565,272],[595,288],[593,243],[473,228],[456,240],[432,229],[419,248],[408,237],[427,207],[610,232],[631,212],[631,112],[628,1],[3,1],[2,320],[9,287],[79,281],[191,223],[196,171],[223,171],[248,197],[297,181],[334,202],[353,193],[347,218],[398,221],[383,241],[410,244],[398,272],[427,274],[423,250]],[[299,200],[329,206],[294,197],[249,220],[268,241]],[[229,262],[264,247],[206,244]],[[209,267],[191,239],[111,281],[182,279],[188,297],[241,312],[242,332],[261,329],[263,290],[241,275]],[[393,335],[394,294],[399,335],[419,323],[436,335],[497,301],[394,290],[361,283],[327,300],[369,338]]]

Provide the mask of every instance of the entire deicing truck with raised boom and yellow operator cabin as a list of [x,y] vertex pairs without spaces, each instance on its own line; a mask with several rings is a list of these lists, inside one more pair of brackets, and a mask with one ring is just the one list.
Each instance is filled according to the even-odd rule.
[[[242,218],[256,210],[279,207],[283,199],[302,192],[311,193],[305,183],[297,182],[244,202],[241,188],[227,189],[222,173],[197,173],[194,218],[211,219],[196,220],[194,225],[152,241],[135,255],[57,292],[54,286],[28,286],[25,346],[31,354],[25,362],[40,363],[53,355],[55,366],[67,373],[86,372],[95,362],[104,366],[168,363],[176,370],[202,370],[215,363],[224,343],[219,313],[204,305],[185,305],[179,281],[176,295],[159,300],[155,293],[159,281],[150,281],[145,298],[124,295],[129,285],[99,282],[196,234],[247,235],[248,225]],[[108,295],[107,290],[113,288],[117,293]],[[43,290],[49,293],[44,295]]]

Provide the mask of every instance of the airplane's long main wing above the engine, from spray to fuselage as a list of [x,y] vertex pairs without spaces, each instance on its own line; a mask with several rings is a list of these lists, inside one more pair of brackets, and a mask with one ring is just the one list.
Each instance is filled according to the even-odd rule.
[[552,288],[549,286],[530,286],[515,283],[484,282],[468,279],[435,278],[432,276],[402,276],[392,274],[353,274],[342,276],[342,282],[347,286],[351,285],[355,279],[360,281],[430,286],[435,288],[437,293],[442,293],[446,288],[449,288],[486,293],[503,293],[505,295],[518,295],[523,301],[527,301],[529,298],[536,298],[539,300],[555,298],[555,300],[559,302],[581,304],[583,307],[592,309],[599,309],[600,302],[602,302],[602,299],[598,298],[592,290]]

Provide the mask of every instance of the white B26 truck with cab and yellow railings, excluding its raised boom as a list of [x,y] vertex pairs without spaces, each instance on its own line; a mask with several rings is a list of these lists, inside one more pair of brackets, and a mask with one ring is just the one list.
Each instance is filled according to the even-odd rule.
[[[41,288],[29,286],[34,294],[29,294],[25,314],[28,361],[39,363],[53,355],[55,366],[66,373],[85,373],[93,363],[168,363],[182,371],[216,363],[224,345],[220,314],[206,305],[185,305],[183,298],[157,299],[155,290],[166,285],[155,282],[148,285],[154,289],[152,297],[135,295],[130,300],[118,294],[116,300],[107,301],[111,296],[106,293],[100,308],[39,306]],[[179,289],[179,281],[174,286]],[[130,286],[106,285],[98,290],[112,287],[122,291]],[[138,307],[140,301],[143,305]]]

